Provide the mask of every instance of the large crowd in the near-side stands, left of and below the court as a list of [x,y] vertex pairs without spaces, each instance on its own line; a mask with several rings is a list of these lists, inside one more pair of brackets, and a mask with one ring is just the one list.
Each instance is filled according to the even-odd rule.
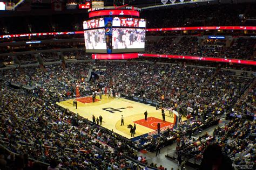
[[[52,91],[31,94],[1,85],[4,94],[1,95],[1,141],[12,152],[28,154],[30,158],[46,163],[54,159],[57,167],[62,168],[116,169],[136,166],[123,155],[129,153],[130,157],[137,159],[133,154],[137,147],[131,144],[132,141],[78,114],[58,108],[53,104],[56,94]],[[11,158],[14,159],[12,161],[18,159]],[[10,160],[9,157],[5,159]],[[12,169],[25,165],[8,166]],[[1,162],[1,167],[5,169],[6,162]]]

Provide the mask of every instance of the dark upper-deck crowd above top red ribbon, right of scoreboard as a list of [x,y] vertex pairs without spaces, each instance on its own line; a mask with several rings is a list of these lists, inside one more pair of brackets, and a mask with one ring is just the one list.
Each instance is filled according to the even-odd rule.
[[[186,26],[220,26],[220,25],[245,25],[246,20],[239,18],[255,16],[250,4],[220,4],[220,5],[195,5],[193,8],[154,8],[142,12],[142,17],[147,19],[147,27],[186,27]],[[245,12],[248,12],[245,14]],[[165,19],[159,19],[165,18]]]

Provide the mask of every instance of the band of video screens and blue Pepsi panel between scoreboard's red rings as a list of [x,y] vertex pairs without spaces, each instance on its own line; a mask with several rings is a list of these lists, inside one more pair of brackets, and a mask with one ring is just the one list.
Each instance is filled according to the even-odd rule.
[[124,53],[145,50],[146,20],[105,17],[83,22],[86,53]]

